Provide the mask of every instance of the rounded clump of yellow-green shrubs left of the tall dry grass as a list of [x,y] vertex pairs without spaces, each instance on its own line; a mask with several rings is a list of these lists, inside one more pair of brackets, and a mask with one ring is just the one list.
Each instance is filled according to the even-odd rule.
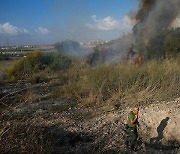
[[60,52],[43,54],[41,51],[34,51],[15,62],[7,74],[11,80],[23,79],[42,71],[67,70],[71,63],[71,59]]

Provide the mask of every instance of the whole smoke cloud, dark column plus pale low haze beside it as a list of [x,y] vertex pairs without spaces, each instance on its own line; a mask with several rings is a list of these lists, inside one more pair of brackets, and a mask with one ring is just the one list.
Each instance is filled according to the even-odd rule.
[[180,27],[180,0],[139,0],[138,10],[129,12],[125,20],[133,26],[132,33],[98,47],[104,62],[124,59],[130,52],[133,60],[139,55],[160,58],[164,51],[158,45],[163,39],[158,37],[171,27]]

